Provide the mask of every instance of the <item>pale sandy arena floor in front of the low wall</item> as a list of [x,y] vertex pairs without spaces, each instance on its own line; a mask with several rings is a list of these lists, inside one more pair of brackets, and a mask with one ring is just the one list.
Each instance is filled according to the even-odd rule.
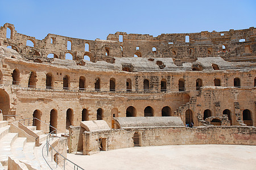
[[68,154],[85,169],[256,169],[256,146],[172,145]]

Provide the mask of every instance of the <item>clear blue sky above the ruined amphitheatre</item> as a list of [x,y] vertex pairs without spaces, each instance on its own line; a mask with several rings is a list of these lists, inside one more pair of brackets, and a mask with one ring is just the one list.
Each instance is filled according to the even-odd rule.
[[256,1],[0,0],[0,25],[44,39],[48,33],[103,39],[117,31],[161,33],[229,31],[256,27]]

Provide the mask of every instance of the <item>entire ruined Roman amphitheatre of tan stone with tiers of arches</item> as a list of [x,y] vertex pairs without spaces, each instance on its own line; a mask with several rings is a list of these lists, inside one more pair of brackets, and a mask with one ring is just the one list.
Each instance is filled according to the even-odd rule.
[[38,40],[4,24],[0,169],[64,168],[76,151],[255,145],[255,39],[250,27]]

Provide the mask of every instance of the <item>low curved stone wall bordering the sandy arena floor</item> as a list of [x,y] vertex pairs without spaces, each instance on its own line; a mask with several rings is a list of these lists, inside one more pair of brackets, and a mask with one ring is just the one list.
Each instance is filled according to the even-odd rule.
[[84,131],[83,154],[92,155],[100,150],[134,147],[134,133],[139,134],[139,146],[256,145],[256,128],[254,126],[123,128]]

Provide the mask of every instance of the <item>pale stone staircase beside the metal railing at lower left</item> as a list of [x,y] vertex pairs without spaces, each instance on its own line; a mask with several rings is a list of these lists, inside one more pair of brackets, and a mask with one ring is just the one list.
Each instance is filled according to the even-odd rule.
[[[18,162],[20,167],[25,167],[24,169],[26,167],[27,169],[51,169],[42,156],[47,134],[44,134],[42,130],[36,130],[36,126],[27,128],[39,135],[40,146],[36,147],[36,142],[28,142],[28,139],[20,137],[19,133],[11,133],[8,122],[0,118],[0,170],[9,169],[8,165],[14,162],[10,162],[10,158],[15,160],[15,163]],[[48,163],[55,164],[54,161]]]

